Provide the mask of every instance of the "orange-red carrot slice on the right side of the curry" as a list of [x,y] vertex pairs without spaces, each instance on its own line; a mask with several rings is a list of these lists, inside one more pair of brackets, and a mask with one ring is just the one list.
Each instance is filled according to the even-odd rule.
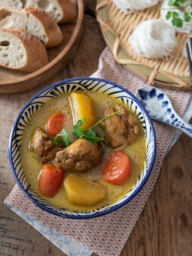
[[114,185],[123,184],[130,176],[130,159],[122,151],[113,151],[102,169],[102,178]]

